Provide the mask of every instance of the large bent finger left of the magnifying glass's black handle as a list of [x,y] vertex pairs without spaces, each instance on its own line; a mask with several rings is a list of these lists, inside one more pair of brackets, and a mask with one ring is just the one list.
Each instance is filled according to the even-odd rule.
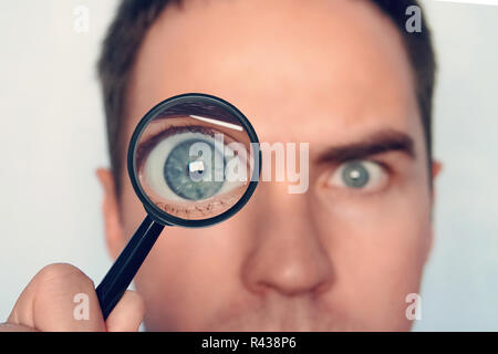
[[43,268],[18,299],[8,323],[38,331],[105,331],[92,280],[64,263]]

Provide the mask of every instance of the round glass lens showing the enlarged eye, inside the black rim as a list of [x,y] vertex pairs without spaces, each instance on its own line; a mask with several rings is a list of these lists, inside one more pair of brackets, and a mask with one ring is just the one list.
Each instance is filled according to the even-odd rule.
[[251,139],[238,117],[209,102],[183,102],[148,121],[134,164],[145,196],[186,220],[216,217],[246,192],[253,168]]

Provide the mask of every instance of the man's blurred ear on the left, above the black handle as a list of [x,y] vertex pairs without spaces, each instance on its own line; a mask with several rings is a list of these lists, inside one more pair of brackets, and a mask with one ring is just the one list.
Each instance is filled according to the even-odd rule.
[[102,212],[104,216],[107,252],[113,259],[116,259],[125,246],[125,239],[123,238],[124,232],[120,219],[120,208],[114,190],[114,178],[112,173],[106,168],[97,168],[96,176],[104,191]]

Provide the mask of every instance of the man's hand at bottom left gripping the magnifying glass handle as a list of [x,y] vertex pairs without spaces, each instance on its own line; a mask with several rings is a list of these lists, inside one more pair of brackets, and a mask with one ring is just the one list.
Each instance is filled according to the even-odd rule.
[[[87,295],[87,320],[74,315],[76,294]],[[142,298],[126,291],[104,322],[93,281],[81,270],[64,263],[43,268],[19,296],[0,332],[20,331],[137,331],[145,313]],[[80,316],[81,317],[81,316]]]

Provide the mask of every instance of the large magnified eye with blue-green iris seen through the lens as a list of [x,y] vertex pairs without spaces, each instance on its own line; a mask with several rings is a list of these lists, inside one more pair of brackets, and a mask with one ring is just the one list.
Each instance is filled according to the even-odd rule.
[[228,180],[225,175],[228,157],[240,157],[211,133],[160,134],[164,138],[142,163],[141,179],[155,195],[172,201],[208,200],[242,186],[243,181]]

